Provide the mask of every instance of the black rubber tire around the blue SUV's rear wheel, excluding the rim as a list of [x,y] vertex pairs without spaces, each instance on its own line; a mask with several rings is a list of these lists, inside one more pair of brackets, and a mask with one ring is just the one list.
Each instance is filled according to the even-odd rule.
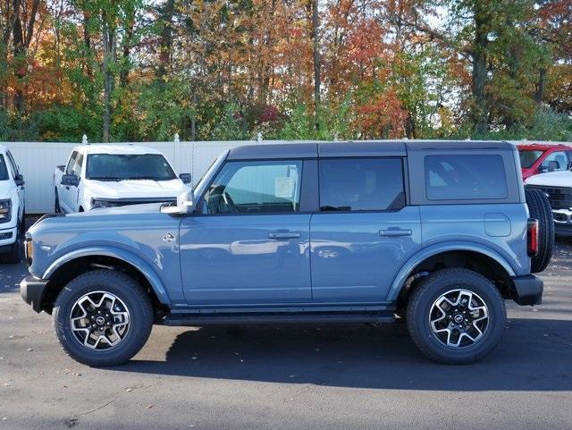
[[[461,348],[450,347],[440,341],[430,325],[435,300],[455,289],[477,294],[484,300],[489,314],[483,337]],[[442,269],[430,274],[419,282],[408,299],[407,324],[411,339],[426,357],[443,364],[469,364],[484,358],[501,341],[506,321],[504,299],[497,288],[483,275],[465,268]]]

